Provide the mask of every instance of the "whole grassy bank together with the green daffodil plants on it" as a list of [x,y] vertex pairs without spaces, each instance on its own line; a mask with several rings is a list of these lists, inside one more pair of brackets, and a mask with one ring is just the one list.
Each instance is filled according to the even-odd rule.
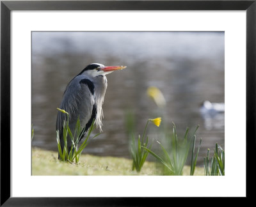
[[[82,155],[82,151],[79,151],[79,162],[63,162],[58,159],[58,152],[46,151],[39,148],[32,148],[32,175],[166,175],[166,168],[169,170],[168,175],[225,175],[225,153],[223,149],[216,144],[214,151],[214,157],[210,162],[209,150],[207,151],[207,157],[205,157],[204,168],[196,167],[196,160],[198,157],[198,152],[202,139],[200,139],[200,144],[198,150],[195,152],[195,141],[196,141],[196,128],[193,134],[193,142],[188,141],[189,129],[187,128],[182,142],[178,141],[177,132],[175,125],[173,123],[173,135],[172,135],[172,151],[168,153],[163,145],[159,143],[161,149],[164,153],[164,158],[159,157],[153,151],[148,149],[148,137],[144,142],[146,135],[146,130],[148,122],[152,121],[157,127],[161,123],[161,118],[148,119],[147,125],[143,131],[143,137],[138,139],[138,145],[135,145],[133,141],[133,150],[134,155],[137,153],[134,160],[134,157],[131,159],[127,158],[116,158],[116,157],[97,157],[93,155]],[[68,125],[66,125],[68,126]],[[79,126],[79,120],[77,121],[77,126]],[[92,132],[93,125],[89,130],[88,137],[90,132]],[[66,141],[68,134],[68,127],[66,128]],[[57,132],[58,134],[58,132]],[[34,130],[33,125],[31,126],[31,141],[33,140]],[[87,143],[88,137],[84,143]],[[58,150],[60,150],[60,139],[58,139]],[[74,139],[72,139],[74,144]],[[83,143],[83,144],[84,144]],[[83,144],[81,146],[83,146]],[[188,157],[189,148],[191,148],[191,165],[185,165],[186,159]],[[65,143],[67,146],[67,142]],[[86,144],[87,145],[87,144]],[[85,146],[86,146],[85,145]],[[74,145],[75,146],[75,145]],[[84,147],[85,147],[84,146]],[[84,148],[83,147],[83,148]],[[151,146],[150,146],[151,148]],[[67,149],[67,148],[66,148]],[[76,148],[77,149],[77,148]],[[132,150],[132,149],[131,149]],[[166,168],[159,167],[159,162],[147,162],[146,158],[148,153],[151,153],[154,157],[157,158]],[[65,155],[67,156],[67,155]],[[194,158],[195,156],[195,158]],[[75,158],[75,157],[74,157]],[[131,169],[132,165],[132,169]],[[136,165],[138,165],[136,167]],[[142,168],[143,166],[143,168]],[[136,172],[133,171],[136,169]]]

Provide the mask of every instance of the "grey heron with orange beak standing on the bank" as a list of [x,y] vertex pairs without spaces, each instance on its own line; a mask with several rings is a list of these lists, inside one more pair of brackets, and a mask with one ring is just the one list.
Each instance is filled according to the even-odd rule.
[[[86,66],[67,84],[60,109],[68,112],[69,127],[72,134],[74,134],[78,118],[81,128],[83,128],[81,139],[91,127],[93,119],[95,119],[97,127],[101,130],[102,104],[108,86],[106,75],[124,68],[126,66],[104,66],[99,63],[92,63]],[[56,130],[59,130],[61,150],[64,148],[63,121],[66,119],[66,114],[58,111]],[[68,152],[70,151],[71,144],[72,142],[68,139]]]

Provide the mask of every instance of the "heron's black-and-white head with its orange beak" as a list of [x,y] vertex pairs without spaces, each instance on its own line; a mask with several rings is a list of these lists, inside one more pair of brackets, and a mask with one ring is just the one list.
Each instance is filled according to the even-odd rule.
[[78,75],[90,75],[96,77],[98,75],[107,75],[115,70],[122,70],[126,66],[104,66],[100,63],[92,63],[84,68]]

